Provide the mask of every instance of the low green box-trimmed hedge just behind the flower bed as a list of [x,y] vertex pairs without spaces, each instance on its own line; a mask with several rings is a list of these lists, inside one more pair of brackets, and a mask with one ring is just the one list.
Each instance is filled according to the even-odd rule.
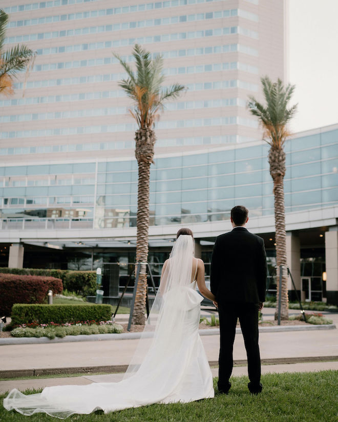
[[22,305],[12,308],[12,326],[30,324],[65,324],[77,321],[108,321],[112,311],[110,305]]

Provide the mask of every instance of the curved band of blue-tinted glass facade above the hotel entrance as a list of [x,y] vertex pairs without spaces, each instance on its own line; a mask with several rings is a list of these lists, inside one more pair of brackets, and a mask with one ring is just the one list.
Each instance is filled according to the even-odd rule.
[[[296,137],[285,145],[286,212],[338,203],[338,130]],[[235,204],[251,217],[273,214],[264,143],[155,157],[150,224],[229,218]],[[120,228],[136,225],[135,158],[0,168],[2,228]]]

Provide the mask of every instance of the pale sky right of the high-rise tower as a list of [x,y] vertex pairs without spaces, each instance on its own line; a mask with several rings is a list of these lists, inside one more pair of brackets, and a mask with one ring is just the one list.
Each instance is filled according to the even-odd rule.
[[338,123],[338,0],[288,0],[292,132]]

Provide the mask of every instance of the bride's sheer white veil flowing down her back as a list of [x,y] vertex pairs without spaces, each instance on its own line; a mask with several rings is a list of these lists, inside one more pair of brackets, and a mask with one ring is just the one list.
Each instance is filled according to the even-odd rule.
[[193,237],[180,235],[162,273],[160,287],[124,379],[143,365],[161,365],[164,357],[180,349],[185,314],[203,299],[190,286],[193,256]]

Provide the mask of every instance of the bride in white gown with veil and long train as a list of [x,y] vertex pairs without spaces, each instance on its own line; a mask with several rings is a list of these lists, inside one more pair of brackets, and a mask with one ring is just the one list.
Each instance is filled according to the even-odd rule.
[[194,258],[194,237],[180,229],[163,265],[160,288],[141,339],[122,381],[85,386],[46,387],[25,395],[12,390],[7,410],[44,412],[64,419],[73,413],[104,413],[150,405],[186,403],[214,397],[213,377],[198,334],[200,303],[215,296],[206,288],[204,264]]

